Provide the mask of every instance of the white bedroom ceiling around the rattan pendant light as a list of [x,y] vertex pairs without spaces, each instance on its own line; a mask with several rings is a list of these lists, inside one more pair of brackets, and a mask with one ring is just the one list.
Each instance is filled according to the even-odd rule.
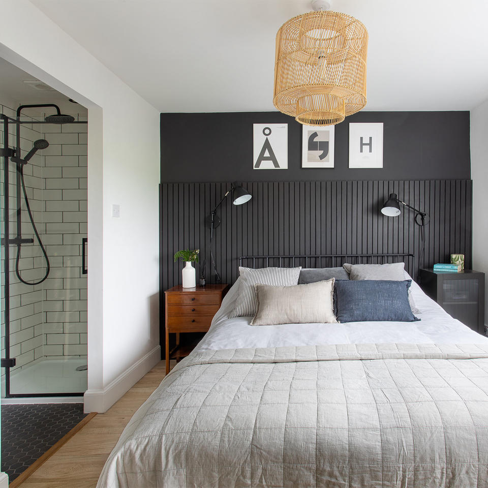
[[[162,112],[274,110],[276,32],[311,10],[308,0],[31,2]],[[487,2],[332,8],[368,28],[367,110],[469,110],[488,98]]]

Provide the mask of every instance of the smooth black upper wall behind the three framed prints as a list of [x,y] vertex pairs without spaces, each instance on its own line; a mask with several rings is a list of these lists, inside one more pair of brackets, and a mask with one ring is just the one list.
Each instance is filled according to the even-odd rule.
[[[383,122],[383,168],[349,169],[349,123]],[[253,169],[253,124],[288,124],[288,169]],[[335,126],[335,167],[301,169],[301,125],[280,112],[162,113],[161,181],[470,179],[469,112],[359,112]]]

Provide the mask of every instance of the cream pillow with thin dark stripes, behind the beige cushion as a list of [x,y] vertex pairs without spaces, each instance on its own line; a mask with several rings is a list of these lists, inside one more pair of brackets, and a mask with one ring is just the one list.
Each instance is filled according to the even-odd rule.
[[294,286],[298,284],[301,266],[297,268],[245,268],[239,266],[239,295],[230,317],[254,317],[258,311],[255,285]]

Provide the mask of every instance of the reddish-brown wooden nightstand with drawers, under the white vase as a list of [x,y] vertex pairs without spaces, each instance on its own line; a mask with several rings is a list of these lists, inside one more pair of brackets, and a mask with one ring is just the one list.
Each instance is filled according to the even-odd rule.
[[[178,350],[180,332],[206,332],[214,315],[220,309],[229,285],[207,285],[195,288],[173,286],[164,292],[165,330],[166,330],[166,374],[169,373],[169,360]],[[176,347],[170,352],[169,334],[176,333]],[[188,355],[190,351],[179,351],[178,357]]]

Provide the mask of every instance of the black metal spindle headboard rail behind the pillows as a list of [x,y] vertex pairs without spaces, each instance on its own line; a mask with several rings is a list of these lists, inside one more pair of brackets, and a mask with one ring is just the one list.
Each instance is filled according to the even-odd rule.
[[[309,260],[315,259],[315,266],[312,267],[334,267],[337,262],[336,260],[338,258],[343,258],[343,259],[348,259],[348,260],[353,260],[354,262],[351,264],[385,264],[389,260],[393,262],[393,258],[409,258],[412,259],[412,261],[409,261],[408,267],[410,268],[410,265],[413,264],[413,258],[415,257],[414,254],[412,253],[404,253],[404,254],[299,254],[299,255],[286,255],[286,256],[278,256],[278,255],[264,255],[264,256],[240,256],[239,257],[239,266],[242,266],[242,261],[243,260],[252,260],[253,262],[253,268],[256,267],[256,260],[261,259],[262,264],[266,262],[266,266],[269,266],[269,260],[271,261],[271,265],[276,265],[276,261],[278,260],[278,267],[282,267],[284,260],[288,260],[288,265],[295,266],[296,260],[298,259],[298,265],[300,265],[303,260],[305,261],[305,266],[304,267],[309,267]],[[322,266],[322,259],[329,259],[331,266]],[[317,266],[317,260],[318,260],[318,266]],[[366,262],[364,262],[364,260]],[[381,263],[379,262],[381,260]],[[374,262],[376,261],[376,262]],[[343,261],[344,262],[344,261]],[[343,262],[340,263],[342,266]],[[398,262],[398,261],[396,261]],[[326,263],[327,264],[327,263]],[[407,264],[407,263],[406,263]],[[258,261],[259,265],[259,261]],[[411,274],[411,269],[407,270]]]

